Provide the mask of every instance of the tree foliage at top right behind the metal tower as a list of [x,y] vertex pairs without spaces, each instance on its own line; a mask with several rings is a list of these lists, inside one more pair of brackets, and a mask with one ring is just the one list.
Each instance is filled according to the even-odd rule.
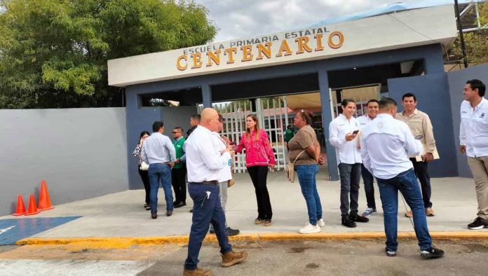
[[[480,25],[488,25],[488,3],[478,4],[478,11],[480,13]],[[475,13],[474,8],[470,13]],[[477,22],[473,27],[477,27]],[[468,62],[472,64],[482,64],[488,62],[488,31],[486,29],[475,32],[468,32],[464,34],[464,42],[466,44],[466,55]],[[456,39],[451,47],[451,55],[463,62],[463,54],[461,51],[461,42],[459,38]]]

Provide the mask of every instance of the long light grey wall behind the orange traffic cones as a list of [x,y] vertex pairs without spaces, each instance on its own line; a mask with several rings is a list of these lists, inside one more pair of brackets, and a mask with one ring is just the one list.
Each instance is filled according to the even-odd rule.
[[53,205],[125,191],[126,109],[0,110],[0,215],[39,196]]

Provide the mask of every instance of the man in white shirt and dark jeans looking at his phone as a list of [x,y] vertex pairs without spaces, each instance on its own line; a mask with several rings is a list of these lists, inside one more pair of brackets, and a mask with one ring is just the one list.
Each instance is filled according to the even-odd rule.
[[359,144],[355,141],[359,132],[359,123],[353,117],[355,102],[353,99],[344,99],[341,106],[342,113],[329,124],[329,142],[335,147],[341,177],[341,223],[353,228],[356,227],[355,222],[367,222],[369,219],[358,215],[362,160]]

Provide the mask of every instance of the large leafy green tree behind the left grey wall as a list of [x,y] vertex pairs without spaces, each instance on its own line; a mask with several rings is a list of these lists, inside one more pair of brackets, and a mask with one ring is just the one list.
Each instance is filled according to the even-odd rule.
[[121,106],[107,60],[208,43],[193,1],[0,0],[0,108]]

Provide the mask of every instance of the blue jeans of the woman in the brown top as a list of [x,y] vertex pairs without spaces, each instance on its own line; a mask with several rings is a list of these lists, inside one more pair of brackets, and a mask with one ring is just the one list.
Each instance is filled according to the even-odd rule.
[[294,166],[294,170],[297,171],[301,194],[304,195],[306,209],[309,211],[309,222],[311,225],[317,225],[317,221],[322,219],[322,204],[316,181],[318,165],[297,165]]

